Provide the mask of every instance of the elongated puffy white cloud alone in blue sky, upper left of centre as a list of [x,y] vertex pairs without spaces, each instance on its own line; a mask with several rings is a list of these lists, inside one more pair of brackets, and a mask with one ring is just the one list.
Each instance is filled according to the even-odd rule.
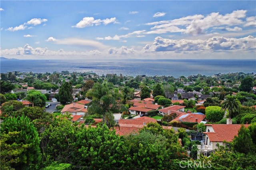
[[116,21],[116,17],[114,18],[106,18],[104,20],[98,19],[95,20],[93,17],[84,17],[83,20],[78,22],[75,26],[72,26],[72,28],[84,28],[87,26],[94,26],[94,25],[100,25],[103,23],[104,25],[108,25],[110,23],[117,24],[118,22]]

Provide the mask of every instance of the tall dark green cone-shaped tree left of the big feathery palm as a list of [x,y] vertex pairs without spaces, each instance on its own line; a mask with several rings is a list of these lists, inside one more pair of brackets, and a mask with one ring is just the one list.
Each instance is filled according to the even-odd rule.
[[72,102],[72,85],[68,82],[64,82],[64,84],[60,86],[59,100],[61,104]]

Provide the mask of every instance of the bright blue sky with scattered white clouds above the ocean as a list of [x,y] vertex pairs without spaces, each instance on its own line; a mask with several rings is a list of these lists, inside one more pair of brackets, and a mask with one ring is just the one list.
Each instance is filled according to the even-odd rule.
[[0,1],[0,56],[256,59],[256,1]]

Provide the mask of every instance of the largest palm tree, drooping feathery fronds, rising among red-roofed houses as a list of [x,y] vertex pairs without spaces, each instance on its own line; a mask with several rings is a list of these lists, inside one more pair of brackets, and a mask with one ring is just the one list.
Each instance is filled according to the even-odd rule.
[[126,109],[116,100],[114,92],[109,87],[110,85],[107,82],[103,84],[95,83],[93,88],[86,93],[86,96],[92,98],[92,102],[88,106],[88,114],[102,115],[103,124],[105,123],[105,119],[108,124],[110,117],[114,120],[114,116],[109,116],[109,114]]

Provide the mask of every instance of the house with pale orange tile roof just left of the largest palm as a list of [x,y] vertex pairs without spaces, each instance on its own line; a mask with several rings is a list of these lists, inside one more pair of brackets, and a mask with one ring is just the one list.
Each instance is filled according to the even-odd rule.
[[72,103],[67,104],[61,110],[61,114],[72,114],[72,115],[84,115],[87,109],[84,108],[84,104]]

